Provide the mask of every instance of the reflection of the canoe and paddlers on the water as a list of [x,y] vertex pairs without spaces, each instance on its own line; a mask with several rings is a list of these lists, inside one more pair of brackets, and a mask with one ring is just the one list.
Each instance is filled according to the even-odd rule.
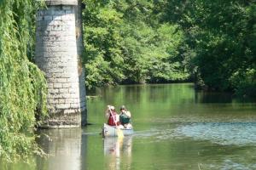
[[109,170],[131,169],[131,147],[132,136],[104,139],[104,156],[107,161],[105,167]]

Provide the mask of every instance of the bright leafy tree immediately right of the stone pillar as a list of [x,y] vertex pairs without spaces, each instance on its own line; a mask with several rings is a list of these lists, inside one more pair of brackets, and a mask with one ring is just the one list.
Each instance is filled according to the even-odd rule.
[[123,76],[120,68],[120,14],[105,7],[106,1],[86,1],[84,11],[86,85],[102,86],[119,82]]

